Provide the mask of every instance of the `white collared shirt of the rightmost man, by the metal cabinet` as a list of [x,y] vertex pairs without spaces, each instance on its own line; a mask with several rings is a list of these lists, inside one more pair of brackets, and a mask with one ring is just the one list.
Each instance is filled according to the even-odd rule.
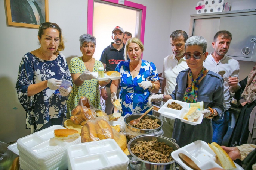
[[[226,71],[223,75],[224,78],[224,106],[226,110],[230,108],[230,92],[228,77],[238,77],[239,76],[239,63],[237,60],[224,55],[224,57],[217,63],[213,58],[213,52],[208,55],[205,62],[203,62],[204,67],[207,70],[213,71],[218,74],[219,71]],[[239,83],[238,83],[239,86]]]

